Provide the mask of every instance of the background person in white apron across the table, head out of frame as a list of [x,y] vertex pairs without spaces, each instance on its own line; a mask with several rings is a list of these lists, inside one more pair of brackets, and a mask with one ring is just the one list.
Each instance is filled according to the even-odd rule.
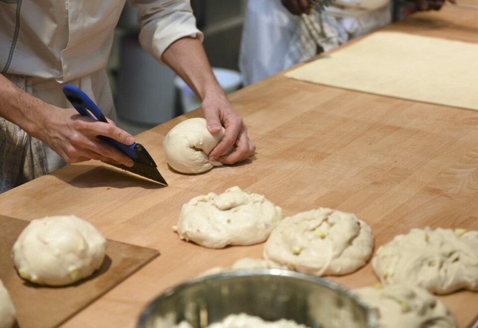
[[[443,0],[439,0],[443,3]],[[243,84],[258,82],[392,21],[390,0],[248,0],[239,51]],[[417,9],[439,9],[414,0]]]

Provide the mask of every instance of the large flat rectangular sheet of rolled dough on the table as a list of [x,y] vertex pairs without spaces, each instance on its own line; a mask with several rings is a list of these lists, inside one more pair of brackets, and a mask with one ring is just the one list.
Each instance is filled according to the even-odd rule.
[[478,44],[375,32],[285,77],[478,110]]

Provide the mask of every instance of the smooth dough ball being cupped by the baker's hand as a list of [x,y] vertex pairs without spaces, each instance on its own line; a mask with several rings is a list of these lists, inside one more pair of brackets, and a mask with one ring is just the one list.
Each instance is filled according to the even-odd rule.
[[221,141],[225,129],[215,136],[209,133],[206,119],[190,118],[174,126],[163,141],[166,161],[173,169],[181,173],[202,173],[218,161],[209,161],[209,153]]

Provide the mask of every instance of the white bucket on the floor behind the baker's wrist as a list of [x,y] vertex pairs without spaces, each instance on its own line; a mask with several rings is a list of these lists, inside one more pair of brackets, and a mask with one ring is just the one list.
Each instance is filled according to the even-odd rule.
[[[242,78],[240,73],[233,70],[213,68],[213,73],[226,94],[240,88]],[[183,113],[201,107],[201,100],[194,94],[194,91],[178,76],[174,77],[174,85],[180,92],[181,108]]]

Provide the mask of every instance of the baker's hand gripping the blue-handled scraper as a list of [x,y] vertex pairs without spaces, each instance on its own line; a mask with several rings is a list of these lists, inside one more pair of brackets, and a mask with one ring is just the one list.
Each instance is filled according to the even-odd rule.
[[120,143],[132,145],[134,138],[110,124],[81,116],[75,109],[53,107],[48,122],[42,122],[38,139],[45,142],[68,163],[100,160],[107,163],[124,164],[131,167],[133,161],[112,145],[96,136],[113,138]]

